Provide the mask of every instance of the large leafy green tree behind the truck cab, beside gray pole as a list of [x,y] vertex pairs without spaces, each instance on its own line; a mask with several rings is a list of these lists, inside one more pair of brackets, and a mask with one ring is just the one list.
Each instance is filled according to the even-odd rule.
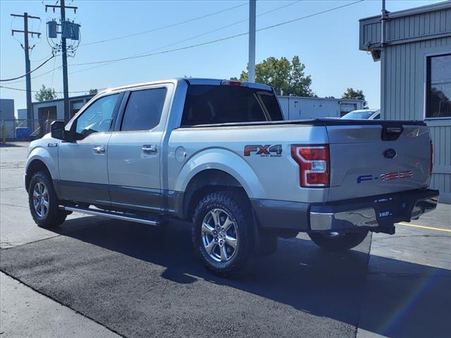
[[[305,65],[299,61],[299,56],[293,56],[291,62],[288,58],[271,56],[255,65],[255,82],[268,84],[278,94],[314,96],[310,89],[311,77],[305,75],[304,70]],[[248,78],[247,70],[243,70],[240,81],[247,81]]]

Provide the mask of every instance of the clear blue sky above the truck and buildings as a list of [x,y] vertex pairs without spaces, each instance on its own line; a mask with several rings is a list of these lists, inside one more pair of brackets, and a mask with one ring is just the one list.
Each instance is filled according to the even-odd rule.
[[[257,30],[354,1],[258,0]],[[29,22],[29,30],[42,33],[41,39],[36,36],[30,39],[30,45],[34,46],[30,55],[31,69],[34,69],[51,56],[51,40],[46,38],[46,23],[59,18],[59,12],[53,13],[49,9],[46,13],[44,5],[56,2],[0,0],[1,79],[25,74],[25,56],[20,46],[23,34],[11,35],[11,29],[23,29],[23,19],[14,19],[10,14],[27,11],[29,15],[41,18]],[[435,2],[440,1],[387,0],[386,8],[388,11],[400,11]],[[248,35],[178,51],[170,50],[247,33],[248,1],[66,0],[66,6],[78,6],[76,13],[67,9],[66,18],[81,25],[80,45],[75,56],[68,58],[70,96],[85,94],[94,88],[104,89],[173,77],[228,79],[239,77],[246,68]],[[267,11],[271,13],[264,14]],[[212,13],[216,14],[210,15]],[[373,62],[366,51],[359,51],[359,19],[380,13],[381,0],[364,0],[257,32],[256,63],[270,56],[291,59],[297,55],[305,65],[305,74],[311,75],[311,89],[316,95],[340,97],[347,87],[353,87],[363,90],[369,107],[378,108],[381,63]],[[199,18],[202,16],[205,17]],[[199,19],[192,20],[195,18]],[[144,31],[151,32],[136,34]],[[132,36],[115,39],[125,35]],[[109,39],[113,40],[104,41]],[[107,64],[78,65],[161,51],[169,52]],[[56,56],[32,73],[32,90],[39,90],[44,84],[53,87],[56,92],[62,92],[61,64],[61,56]],[[24,79],[0,82],[0,85],[25,89]],[[62,96],[58,94],[58,97]],[[0,88],[0,97],[14,99],[16,111],[26,107],[23,91]]]

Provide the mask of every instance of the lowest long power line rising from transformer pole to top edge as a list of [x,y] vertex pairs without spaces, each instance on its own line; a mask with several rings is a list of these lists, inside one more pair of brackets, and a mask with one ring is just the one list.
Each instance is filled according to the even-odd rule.
[[[323,14],[323,13],[328,13],[330,11],[335,11],[335,10],[340,9],[340,8],[344,8],[344,7],[347,7],[347,6],[354,5],[354,4],[358,4],[359,2],[362,2],[362,1],[364,1],[364,0],[358,0],[358,1],[354,1],[354,2],[351,2],[349,4],[345,4],[345,5],[342,5],[342,6],[329,8],[327,10],[316,12],[316,13],[313,13],[313,14],[310,14],[310,15],[305,15],[305,16],[302,16],[300,18],[295,18],[295,19],[292,19],[292,20],[284,21],[283,23],[277,23],[275,25],[262,27],[262,28],[259,28],[256,31],[257,32],[261,32],[263,30],[269,30],[269,29],[274,28],[274,27],[280,27],[282,25],[287,25],[288,23],[294,23],[295,21],[311,18],[311,17],[316,16],[316,15],[320,15],[320,14]],[[154,55],[159,55],[159,54],[168,54],[168,53],[171,53],[173,51],[182,51],[182,50],[185,50],[185,49],[192,49],[192,48],[199,47],[199,46],[205,46],[207,44],[214,44],[216,42],[221,42],[221,41],[226,41],[226,40],[229,40],[229,39],[234,39],[235,37],[242,37],[242,36],[245,36],[245,35],[248,35],[248,34],[249,34],[249,32],[244,32],[244,33],[240,33],[240,34],[236,34],[236,35],[230,35],[228,37],[222,37],[220,39],[214,39],[214,40],[211,40],[211,41],[208,41],[208,42],[202,42],[202,43],[199,43],[199,44],[192,44],[190,46],[183,46],[183,47],[180,47],[180,48],[168,49],[166,51],[158,51],[156,53],[149,53],[149,54],[135,55],[135,56],[125,56],[123,58],[112,58],[112,59],[103,60],[103,61],[92,61],[92,62],[85,62],[85,63],[73,63],[73,64],[71,64],[71,66],[73,66],[73,65],[94,65],[94,64],[99,64],[99,63],[110,63],[110,62],[116,62],[116,61],[131,60],[131,59],[135,59],[135,58],[145,58],[147,56],[154,56]]]

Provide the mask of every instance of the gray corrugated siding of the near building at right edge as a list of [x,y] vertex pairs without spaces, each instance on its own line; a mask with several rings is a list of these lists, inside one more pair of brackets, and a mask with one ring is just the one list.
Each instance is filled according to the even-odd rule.
[[[360,43],[377,42],[380,23],[363,20]],[[443,33],[448,36],[443,37]],[[448,34],[449,33],[449,34]],[[381,108],[385,120],[424,120],[426,56],[451,52],[451,3],[441,11],[393,18],[381,55]],[[451,67],[451,65],[450,65]],[[434,143],[433,189],[451,203],[451,119],[426,120]]]

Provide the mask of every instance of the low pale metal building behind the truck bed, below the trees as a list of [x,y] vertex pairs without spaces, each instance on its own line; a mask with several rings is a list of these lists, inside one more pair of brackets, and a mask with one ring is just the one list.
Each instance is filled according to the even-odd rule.
[[321,97],[278,96],[285,120],[304,118],[340,118],[362,109],[364,101],[350,99],[323,99]]

